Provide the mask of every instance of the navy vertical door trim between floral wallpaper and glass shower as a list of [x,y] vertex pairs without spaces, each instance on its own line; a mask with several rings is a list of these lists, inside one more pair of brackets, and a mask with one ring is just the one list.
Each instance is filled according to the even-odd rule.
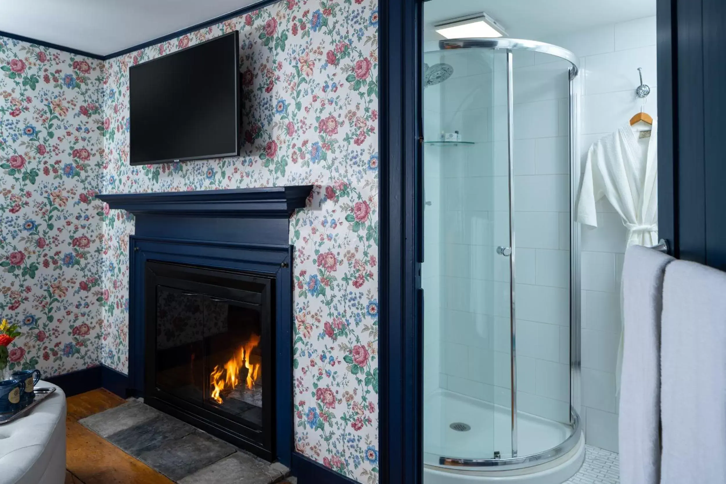
[[420,311],[421,2],[380,2],[381,483],[423,475]]

